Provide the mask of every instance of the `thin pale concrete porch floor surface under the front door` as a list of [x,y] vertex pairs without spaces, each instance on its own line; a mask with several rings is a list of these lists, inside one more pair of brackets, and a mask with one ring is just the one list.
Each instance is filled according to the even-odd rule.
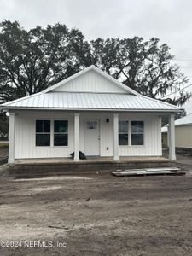
[[71,158],[36,158],[36,159],[22,159],[15,160],[14,165],[54,165],[54,164],[96,164],[96,163],[147,163],[147,162],[170,162],[166,157],[162,156],[123,156],[119,161],[114,161],[113,157],[88,157],[86,160],[79,160],[75,162]]

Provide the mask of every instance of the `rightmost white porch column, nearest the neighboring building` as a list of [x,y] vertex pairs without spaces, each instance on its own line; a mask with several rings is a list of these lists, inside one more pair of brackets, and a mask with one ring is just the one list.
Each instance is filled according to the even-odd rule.
[[175,154],[175,116],[171,114],[169,116],[169,126],[168,126],[168,142],[169,142],[169,159],[176,160]]

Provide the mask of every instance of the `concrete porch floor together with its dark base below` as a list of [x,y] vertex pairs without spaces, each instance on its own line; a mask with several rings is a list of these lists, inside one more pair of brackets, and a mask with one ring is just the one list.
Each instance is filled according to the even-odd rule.
[[161,156],[120,157],[119,161],[114,161],[113,157],[91,157],[78,162],[69,158],[23,159],[16,160],[15,164],[9,164],[7,170],[5,170],[6,173],[3,173],[3,175],[16,178],[48,177],[167,166],[175,166],[175,163]]

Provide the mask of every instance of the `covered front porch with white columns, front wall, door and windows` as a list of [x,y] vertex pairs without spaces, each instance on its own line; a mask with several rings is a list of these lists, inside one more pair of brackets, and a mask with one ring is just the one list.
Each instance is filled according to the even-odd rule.
[[[15,111],[9,113],[9,163],[164,161],[161,117],[164,113]],[[167,113],[166,113],[167,114]],[[49,123],[49,145],[37,145],[37,120]],[[55,122],[67,125],[66,145],[55,145]],[[49,122],[48,122],[49,121]],[[36,125],[36,126],[35,126]],[[139,126],[140,125],[140,126]],[[120,128],[119,128],[120,127]],[[169,113],[169,160],[175,160],[174,114]],[[41,132],[43,134],[43,132]],[[58,141],[57,141],[58,143]],[[74,154],[73,159],[70,154]]]

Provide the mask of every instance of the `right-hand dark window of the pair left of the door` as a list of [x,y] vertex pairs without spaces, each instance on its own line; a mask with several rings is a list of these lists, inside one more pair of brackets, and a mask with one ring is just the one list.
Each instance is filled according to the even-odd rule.
[[54,146],[68,145],[68,121],[54,121]]

